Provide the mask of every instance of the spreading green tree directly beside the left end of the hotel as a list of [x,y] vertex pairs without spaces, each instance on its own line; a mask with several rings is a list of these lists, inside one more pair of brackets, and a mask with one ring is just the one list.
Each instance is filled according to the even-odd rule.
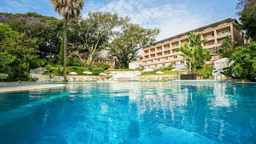
[[128,68],[129,62],[138,57],[138,50],[151,45],[158,33],[158,29],[144,29],[124,21],[110,46],[110,54],[115,58],[115,67]]

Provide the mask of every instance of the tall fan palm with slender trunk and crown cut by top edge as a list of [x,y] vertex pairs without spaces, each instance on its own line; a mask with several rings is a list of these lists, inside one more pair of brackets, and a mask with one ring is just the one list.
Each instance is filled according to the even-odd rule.
[[50,0],[52,7],[64,17],[63,75],[67,81],[67,21],[79,16],[83,8],[83,0]]

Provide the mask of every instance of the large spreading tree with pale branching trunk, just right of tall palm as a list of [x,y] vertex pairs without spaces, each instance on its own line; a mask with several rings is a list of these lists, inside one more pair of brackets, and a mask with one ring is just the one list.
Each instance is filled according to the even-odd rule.
[[70,48],[77,57],[80,57],[80,52],[87,52],[86,64],[90,65],[96,53],[108,47],[113,29],[119,24],[117,14],[103,12],[89,13],[87,19],[75,19],[70,23]]

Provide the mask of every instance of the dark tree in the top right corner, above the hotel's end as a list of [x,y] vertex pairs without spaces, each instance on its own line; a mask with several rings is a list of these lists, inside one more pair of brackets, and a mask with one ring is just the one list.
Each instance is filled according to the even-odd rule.
[[256,40],[256,1],[240,0],[237,9],[241,21],[241,28],[245,30],[246,37]]

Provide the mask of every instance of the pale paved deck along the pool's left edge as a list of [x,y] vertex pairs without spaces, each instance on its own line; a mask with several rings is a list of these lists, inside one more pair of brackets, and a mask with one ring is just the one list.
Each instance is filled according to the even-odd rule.
[[65,87],[63,84],[17,84],[17,83],[0,83],[0,93],[17,92],[26,90],[39,90],[48,88]]

